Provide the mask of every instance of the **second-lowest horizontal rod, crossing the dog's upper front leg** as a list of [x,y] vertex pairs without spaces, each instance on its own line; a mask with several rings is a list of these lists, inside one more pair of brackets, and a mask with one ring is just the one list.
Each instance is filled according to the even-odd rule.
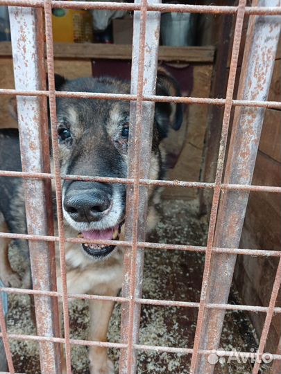
[[[11,287],[0,287],[0,292],[6,292],[8,294],[28,294],[38,296],[53,296],[61,297],[62,292],[55,291],[41,291],[41,290],[26,290],[22,288],[11,288]],[[79,300],[102,300],[102,301],[114,301],[116,303],[126,303],[129,301],[126,297],[121,296],[101,296],[101,295],[90,295],[90,294],[67,294],[69,299]],[[191,301],[175,301],[175,300],[157,300],[157,299],[135,299],[137,303],[142,305],[158,305],[158,306],[176,306],[179,308],[198,308],[199,303]],[[266,313],[269,309],[264,306],[255,305],[235,305],[235,304],[207,304],[207,308],[210,309],[223,309],[223,310],[244,310],[246,312],[264,312]],[[275,307],[275,313],[281,313],[281,308]]]

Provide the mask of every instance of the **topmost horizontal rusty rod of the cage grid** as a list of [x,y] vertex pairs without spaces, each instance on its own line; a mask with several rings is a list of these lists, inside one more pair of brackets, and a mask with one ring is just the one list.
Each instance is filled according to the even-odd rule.
[[[0,0],[0,6],[22,6],[43,8],[44,0]],[[107,9],[107,10],[140,10],[136,3],[107,3],[103,1],[51,1],[52,8],[65,9]],[[204,14],[236,14],[237,6],[192,6],[180,4],[148,4],[148,12],[188,12]],[[246,15],[281,15],[281,7],[246,7]]]

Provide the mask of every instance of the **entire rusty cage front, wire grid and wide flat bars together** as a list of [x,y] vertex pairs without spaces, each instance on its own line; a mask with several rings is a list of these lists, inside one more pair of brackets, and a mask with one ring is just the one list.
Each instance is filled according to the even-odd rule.
[[[275,6],[273,6],[273,3]],[[154,350],[156,352],[191,354],[190,373],[212,373],[212,367],[206,363],[205,355],[212,353],[213,348],[217,348],[221,325],[225,310],[243,310],[248,312],[265,313],[266,318],[262,329],[262,336],[259,342],[258,354],[264,352],[266,339],[268,339],[269,328],[274,313],[281,313],[281,308],[275,305],[275,301],[280,290],[281,283],[281,251],[270,251],[262,249],[239,249],[239,238],[241,234],[241,224],[244,219],[246,201],[250,191],[259,193],[281,193],[280,186],[253,186],[251,177],[253,175],[253,166],[255,165],[255,152],[259,139],[264,109],[281,109],[281,103],[265,100],[269,89],[273,62],[276,51],[277,37],[280,33],[280,1],[254,0],[253,6],[246,6],[246,0],[240,0],[239,6],[191,6],[181,4],[162,4],[160,1],[148,2],[147,0],[135,1],[135,3],[117,3],[117,2],[94,2],[94,1],[55,1],[55,0],[0,0],[0,5],[20,6],[22,9],[11,9],[12,17],[12,50],[14,53],[14,62],[17,62],[17,55],[20,50],[31,53],[36,50],[43,40],[42,28],[40,33],[31,30],[30,33],[22,37],[21,33],[27,30],[20,30],[16,35],[16,22],[26,21],[28,17],[35,17],[42,26],[42,9],[45,14],[46,27],[46,57],[48,66],[49,90],[46,90],[44,79],[44,66],[39,64],[39,69],[35,71],[32,65],[33,60],[28,53],[20,56],[19,61],[24,61],[31,66],[29,71],[24,71],[22,67],[15,67],[16,89],[0,89],[0,95],[17,96],[19,112],[26,114],[26,121],[22,120],[20,125],[21,148],[23,172],[12,172],[0,170],[0,175],[6,177],[23,177],[26,189],[35,190],[32,193],[33,199],[26,197],[28,234],[0,233],[0,238],[16,238],[28,240],[31,247],[31,262],[33,268],[33,290],[0,287],[0,292],[15,294],[30,294],[35,296],[37,319],[41,321],[41,327],[38,329],[38,335],[20,335],[8,334],[6,330],[3,310],[0,299],[0,337],[3,338],[3,344],[8,360],[10,373],[15,373],[12,364],[12,355],[10,352],[9,339],[33,340],[40,343],[40,363],[42,373],[60,373],[60,364],[58,362],[58,346],[65,344],[67,373],[71,373],[70,346],[100,346],[107,348],[117,348],[121,350],[120,370],[121,374],[134,374],[136,368],[137,350]],[[37,8],[32,9],[33,8]],[[38,9],[39,8],[39,9]],[[133,70],[132,70],[132,89],[128,95],[124,94],[101,94],[85,92],[65,92],[56,91],[54,85],[54,67],[53,67],[53,39],[51,24],[52,8],[71,8],[71,9],[108,9],[108,10],[130,10],[135,12],[134,20],[134,43],[133,43]],[[12,13],[13,12],[13,13]],[[157,65],[157,44],[159,37],[160,12],[196,12],[203,14],[221,14],[236,15],[236,28],[234,44],[232,49],[232,58],[230,64],[230,75],[228,79],[227,94],[225,98],[195,98],[195,97],[173,97],[173,96],[155,96],[153,84],[155,83],[156,65]],[[246,41],[246,51],[244,52],[244,65],[242,66],[242,78],[239,87],[237,100],[233,99],[233,89],[237,71],[237,58],[241,42],[241,30],[244,15],[252,15]],[[261,17],[271,15],[271,17]],[[275,16],[275,17],[274,17]],[[21,19],[22,17],[22,19]],[[140,18],[138,18],[140,17]],[[261,22],[260,22],[261,21]],[[34,28],[31,22],[28,27]],[[151,30],[154,30],[151,32]],[[270,31],[270,32],[269,32]],[[138,35],[139,34],[139,35]],[[15,40],[19,44],[15,44]],[[153,51],[150,54],[145,53],[145,45],[153,44]],[[43,43],[41,43],[43,47]],[[33,49],[32,49],[33,48]],[[37,59],[44,60],[43,48],[39,48]],[[263,64],[259,64],[261,56],[266,55]],[[146,60],[150,61],[146,64]],[[249,62],[251,66],[249,66]],[[27,69],[27,70],[28,70]],[[24,72],[28,78],[28,87],[26,79],[24,84],[20,75]],[[39,75],[38,75],[39,73]],[[253,78],[254,77],[254,78]],[[42,84],[40,84],[40,82]],[[261,84],[262,82],[262,84]],[[245,93],[245,94],[244,94]],[[129,174],[127,178],[111,177],[90,177],[87,175],[60,175],[60,166],[58,161],[58,144],[56,141],[56,97],[71,98],[94,98],[100,100],[127,100],[130,101],[131,121],[135,122],[134,132],[130,132],[130,162]],[[53,144],[53,160],[55,164],[54,173],[49,168],[49,142],[46,141],[46,98],[49,98],[51,132]],[[221,134],[221,147],[219,151],[218,166],[216,170],[216,179],[214,183],[191,182],[191,181],[160,181],[148,179],[148,160],[151,152],[151,124],[153,122],[153,107],[155,102],[167,103],[185,103],[196,105],[217,105],[224,106],[223,130]],[[28,104],[29,103],[29,104]],[[38,103],[40,105],[38,106]],[[28,106],[29,105],[29,106]],[[225,149],[230,122],[230,110],[235,107],[235,119],[232,130],[232,140],[230,151],[228,153],[225,177],[222,181],[223,166],[225,160]],[[38,114],[38,116],[34,115]],[[40,118],[40,125],[34,125],[36,118]],[[150,118],[150,121],[142,121],[142,118]],[[30,122],[28,124],[28,121]],[[244,123],[241,130],[240,123]],[[32,123],[32,125],[31,125]],[[34,126],[33,126],[34,125]],[[26,130],[31,130],[33,142],[28,139]],[[42,136],[43,132],[45,136]],[[134,134],[133,134],[134,133]],[[133,134],[133,137],[132,137]],[[142,136],[139,136],[142,134]],[[144,135],[143,135],[144,134]],[[28,139],[28,141],[26,141]],[[35,139],[35,141],[34,141]],[[45,139],[40,143],[41,139]],[[24,140],[24,141],[23,141]],[[145,154],[146,157],[140,157]],[[65,264],[65,242],[82,243],[83,239],[65,238],[62,216],[62,179],[99,181],[103,183],[119,183],[128,185],[128,199],[126,204],[126,214],[130,217],[126,224],[126,240],[89,240],[97,244],[118,244],[126,247],[125,251],[125,281],[124,295],[119,296],[98,296],[88,294],[68,294],[67,278]],[[53,234],[51,227],[52,213],[46,209],[49,215],[44,215],[37,211],[40,206],[36,199],[40,198],[46,202],[46,206],[51,206],[51,194],[49,193],[51,180],[56,185],[56,204],[58,211],[58,235]],[[169,243],[151,243],[145,242],[145,219],[147,205],[148,186],[180,186],[182,188],[209,188],[214,190],[212,212],[210,217],[209,233],[207,246],[191,246]],[[38,186],[40,186],[38,188]],[[223,191],[221,203],[219,197]],[[42,200],[42,201],[43,201]],[[232,215],[229,214],[232,206]],[[35,209],[36,206],[36,209]],[[42,204],[41,204],[42,206]],[[233,209],[233,206],[236,208]],[[36,217],[40,216],[40,220]],[[44,217],[42,219],[42,217]],[[36,225],[35,225],[36,222]],[[41,222],[41,226],[37,226]],[[129,223],[130,222],[130,223]],[[56,290],[56,271],[51,268],[51,258],[54,256],[54,244],[59,244],[60,249],[60,268],[62,276],[62,291]],[[40,246],[38,253],[37,249]],[[131,248],[131,249],[130,249]],[[42,250],[44,249],[44,251]],[[142,266],[144,250],[180,250],[205,253],[205,267],[203,273],[203,283],[201,290],[201,299],[199,303],[187,301],[154,300],[142,298]],[[47,252],[47,250],[49,252]],[[44,253],[45,252],[45,253]],[[232,278],[233,267],[237,255],[246,256],[272,256],[279,258],[279,265],[275,276],[273,290],[269,306],[252,305],[230,305],[227,303],[229,285]],[[45,257],[44,257],[45,256]],[[42,259],[46,259],[43,260]],[[214,258],[216,265],[214,265]],[[218,258],[220,261],[218,261]],[[220,264],[218,266],[218,263]],[[217,271],[225,267],[225,276],[219,278]],[[43,269],[44,268],[44,269]],[[42,271],[42,269],[44,271]],[[47,270],[47,271],[46,271]],[[42,272],[41,272],[42,271]],[[45,276],[42,276],[45,274]],[[49,274],[49,277],[46,277]],[[217,290],[218,280],[221,280],[221,290]],[[40,287],[43,285],[44,287]],[[216,287],[217,286],[217,287]],[[58,332],[58,309],[57,300],[62,299],[65,323],[65,338],[59,337]],[[85,300],[107,300],[121,303],[122,330],[121,343],[87,341],[79,339],[70,339],[69,336],[69,299]],[[159,305],[164,307],[176,306],[181,308],[198,308],[198,321],[196,325],[196,336],[193,348],[178,348],[164,346],[146,346],[138,343],[139,332],[139,309],[141,305]],[[51,315],[53,312],[53,315]],[[46,314],[45,314],[46,313]],[[44,319],[43,319],[44,315]],[[47,315],[47,318],[46,318]],[[209,322],[207,323],[207,317]],[[45,320],[46,323],[42,323]],[[224,355],[231,355],[232,352],[223,351]],[[248,355],[249,353],[239,352],[239,355]],[[280,372],[281,362],[281,341],[276,354],[273,354],[272,373]],[[275,372],[274,372],[275,370]],[[253,374],[259,371],[259,364],[255,362]]]

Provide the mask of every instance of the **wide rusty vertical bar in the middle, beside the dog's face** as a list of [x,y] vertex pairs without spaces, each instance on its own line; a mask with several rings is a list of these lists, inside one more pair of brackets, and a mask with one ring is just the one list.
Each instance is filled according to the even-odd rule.
[[[119,373],[136,371],[136,355],[133,344],[139,335],[140,305],[135,299],[142,296],[144,252],[137,248],[137,240],[145,240],[148,188],[139,186],[140,178],[149,177],[151,144],[155,103],[144,102],[144,95],[154,95],[156,89],[157,56],[160,34],[160,12],[146,12],[147,0],[141,3],[140,12],[134,14],[131,94],[137,101],[130,103],[130,147],[128,177],[134,178],[133,186],[127,186],[126,240],[132,240],[131,251],[124,256],[123,295],[130,298],[122,308],[121,339],[128,341],[128,349],[121,350]],[[160,3],[161,0],[151,0]]]

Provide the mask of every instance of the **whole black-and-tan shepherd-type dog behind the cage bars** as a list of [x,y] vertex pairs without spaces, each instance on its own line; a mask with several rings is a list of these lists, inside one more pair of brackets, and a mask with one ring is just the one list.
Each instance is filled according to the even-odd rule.
[[[114,78],[56,77],[60,91],[130,93],[130,82]],[[178,84],[161,71],[157,95],[179,96]],[[57,98],[60,170],[63,174],[127,177],[130,103],[120,100]],[[182,122],[182,108],[174,103],[156,103],[150,178],[164,177],[162,140],[169,129]],[[22,170],[17,130],[0,131],[0,169]],[[150,190],[147,231],[155,226],[153,208],[157,191]],[[0,177],[0,231],[27,233],[22,179]],[[88,244],[87,240],[124,238],[126,186],[87,181],[62,182],[62,208],[67,237],[84,238],[84,244],[66,243],[67,287],[71,294],[116,296],[122,285],[123,249],[113,245]],[[6,239],[0,240],[0,278],[6,285],[19,286],[19,278],[8,260]],[[15,240],[21,253],[28,243]],[[58,291],[61,291],[59,253],[56,249]],[[26,256],[28,259],[28,256]],[[28,274],[29,260],[26,260]],[[28,279],[26,276],[24,279]],[[29,287],[24,284],[24,287]],[[112,314],[110,301],[90,301],[90,337],[106,341]],[[90,373],[112,374],[113,364],[105,348],[90,347]]]

